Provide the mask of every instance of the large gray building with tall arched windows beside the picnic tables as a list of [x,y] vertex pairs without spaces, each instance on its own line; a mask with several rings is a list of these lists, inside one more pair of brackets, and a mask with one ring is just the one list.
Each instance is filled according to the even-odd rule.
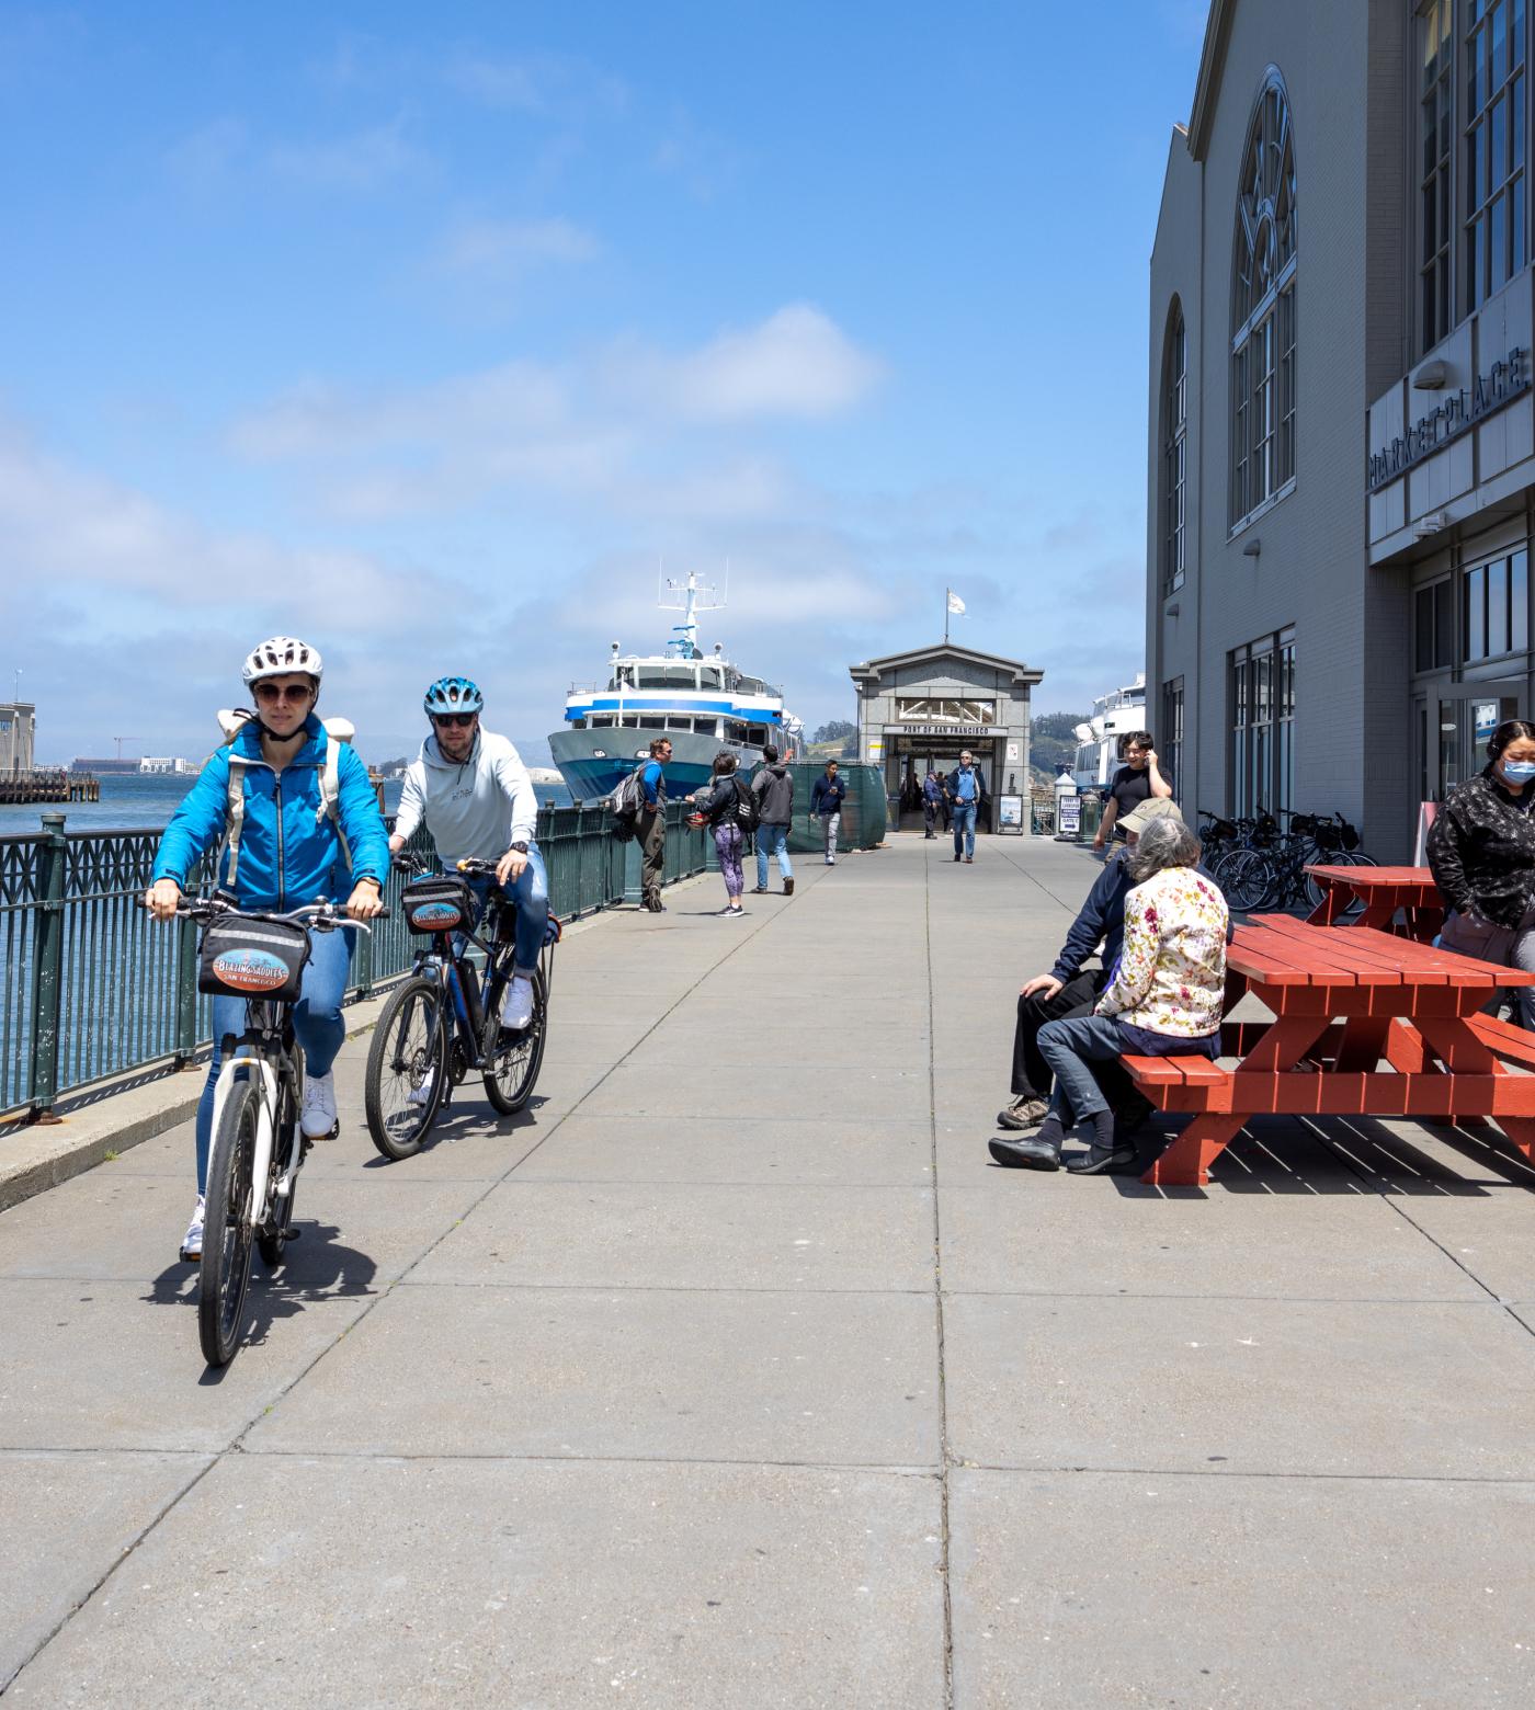
[[1152,253],[1150,728],[1381,858],[1530,716],[1525,0],[1213,0]]

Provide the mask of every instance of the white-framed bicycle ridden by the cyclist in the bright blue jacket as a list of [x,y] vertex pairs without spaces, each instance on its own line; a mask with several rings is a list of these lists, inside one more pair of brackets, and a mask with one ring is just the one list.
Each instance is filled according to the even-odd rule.
[[214,1086],[197,1293],[204,1359],[226,1366],[245,1329],[252,1248],[276,1271],[282,1248],[299,1235],[293,1207],[298,1173],[313,1142],[298,1122],[305,1057],[293,1033],[293,1005],[310,956],[310,932],[368,927],[335,903],[310,903],[279,915],[190,898],[176,913],[205,929],[199,990],[246,1000],[245,1031],[224,1036],[224,1062]]

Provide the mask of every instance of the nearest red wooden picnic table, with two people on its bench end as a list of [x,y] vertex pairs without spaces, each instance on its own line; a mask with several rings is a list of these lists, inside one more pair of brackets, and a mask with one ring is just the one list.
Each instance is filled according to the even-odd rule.
[[1253,992],[1273,1021],[1222,1023],[1222,1055],[1126,1057],[1162,1110],[1194,1120],[1141,1176],[1201,1187],[1249,1117],[1496,1117],[1535,1161],[1535,1035],[1479,1011],[1535,973],[1439,951],[1374,927],[1254,915],[1227,951],[1227,1012]]

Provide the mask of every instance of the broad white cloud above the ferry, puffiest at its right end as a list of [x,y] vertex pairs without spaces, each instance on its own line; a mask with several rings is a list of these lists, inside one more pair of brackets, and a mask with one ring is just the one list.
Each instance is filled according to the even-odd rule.
[[394,392],[310,383],[236,422],[231,443],[293,467],[349,518],[529,491],[630,516],[765,516],[818,501],[750,429],[849,410],[878,373],[820,310],[796,304],[685,352],[625,340]]

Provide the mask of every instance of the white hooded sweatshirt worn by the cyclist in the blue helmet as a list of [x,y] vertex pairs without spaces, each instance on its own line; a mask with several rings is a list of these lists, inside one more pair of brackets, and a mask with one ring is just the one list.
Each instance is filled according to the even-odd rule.
[[426,821],[445,867],[479,857],[495,860],[512,843],[532,843],[539,804],[532,778],[505,737],[474,734],[465,761],[443,759],[436,737],[406,771],[395,834],[409,838]]

